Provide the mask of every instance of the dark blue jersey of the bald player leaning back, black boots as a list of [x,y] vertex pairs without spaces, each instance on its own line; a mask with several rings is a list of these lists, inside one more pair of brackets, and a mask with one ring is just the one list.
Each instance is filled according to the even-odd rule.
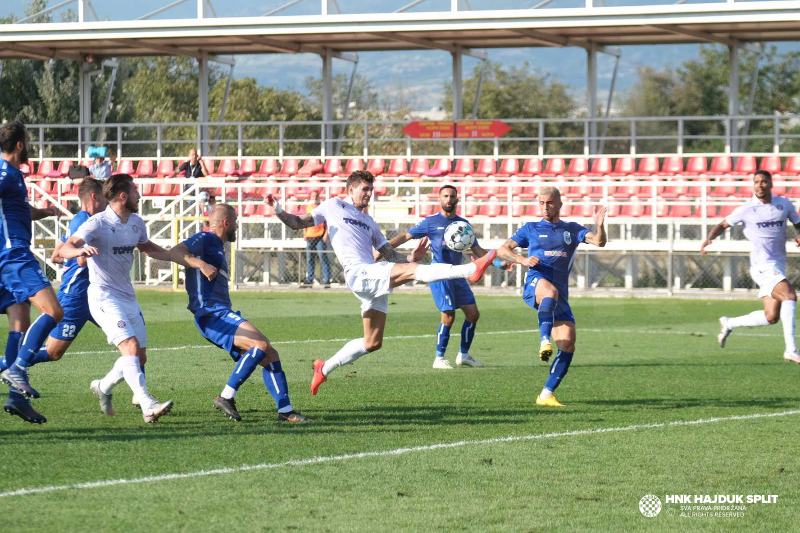
[[194,257],[199,257],[209,265],[217,268],[214,280],[208,280],[197,268],[186,268],[186,292],[189,293],[189,310],[198,312],[202,308],[230,308],[230,292],[228,292],[228,260],[225,257],[225,245],[214,233],[200,232],[183,241]]

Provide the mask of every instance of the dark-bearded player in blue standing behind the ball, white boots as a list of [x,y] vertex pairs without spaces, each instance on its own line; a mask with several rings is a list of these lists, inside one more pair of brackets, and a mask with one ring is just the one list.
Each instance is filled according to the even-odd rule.
[[[447,248],[444,241],[445,229],[455,221],[466,222],[466,219],[455,214],[458,205],[458,190],[453,185],[444,185],[439,189],[439,206],[441,213],[426,217],[409,229],[406,233],[401,233],[389,241],[394,248],[411,239],[422,239],[428,237],[430,241],[430,251],[434,254],[434,263],[446,263],[448,265],[461,265],[462,253],[454,252]],[[476,239],[472,245],[472,253],[475,257],[483,257],[488,253],[478,245]],[[499,260],[495,260],[495,266],[504,268],[508,265]],[[458,356],[455,364],[458,366],[482,367],[483,363],[474,360],[470,356],[470,346],[475,336],[475,324],[481,316],[478,312],[478,305],[475,304],[475,296],[472,293],[470,284],[465,279],[434,281],[428,284],[430,293],[434,296],[434,302],[439,311],[442,312],[442,322],[436,330],[436,357],[434,358],[434,368],[453,368],[450,361],[445,359],[445,350],[450,341],[450,328],[455,321],[455,310],[461,309],[464,312],[464,324],[461,327],[461,346],[458,349]]]

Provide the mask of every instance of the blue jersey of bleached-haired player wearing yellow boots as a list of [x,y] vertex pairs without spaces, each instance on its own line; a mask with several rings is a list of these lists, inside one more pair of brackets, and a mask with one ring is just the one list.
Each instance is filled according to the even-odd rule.
[[539,258],[538,265],[528,268],[528,275],[535,273],[550,280],[558,288],[559,298],[566,300],[575,250],[587,233],[589,230],[577,222],[553,224],[542,219],[523,225],[511,239],[528,249],[528,257]]

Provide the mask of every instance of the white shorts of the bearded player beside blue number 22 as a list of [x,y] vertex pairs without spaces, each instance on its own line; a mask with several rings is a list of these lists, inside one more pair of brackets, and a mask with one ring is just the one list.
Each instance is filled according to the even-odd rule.
[[147,347],[145,319],[136,300],[119,300],[94,284],[89,285],[86,294],[92,317],[106,334],[108,344],[118,345],[134,336],[140,348]]

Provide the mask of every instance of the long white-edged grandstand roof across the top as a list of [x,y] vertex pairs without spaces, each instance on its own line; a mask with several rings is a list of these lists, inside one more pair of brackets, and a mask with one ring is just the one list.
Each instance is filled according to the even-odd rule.
[[[78,0],[81,2],[82,0]],[[588,2],[588,0],[587,0]],[[200,8],[198,7],[198,10]],[[0,59],[800,41],[800,2],[0,25]]]

